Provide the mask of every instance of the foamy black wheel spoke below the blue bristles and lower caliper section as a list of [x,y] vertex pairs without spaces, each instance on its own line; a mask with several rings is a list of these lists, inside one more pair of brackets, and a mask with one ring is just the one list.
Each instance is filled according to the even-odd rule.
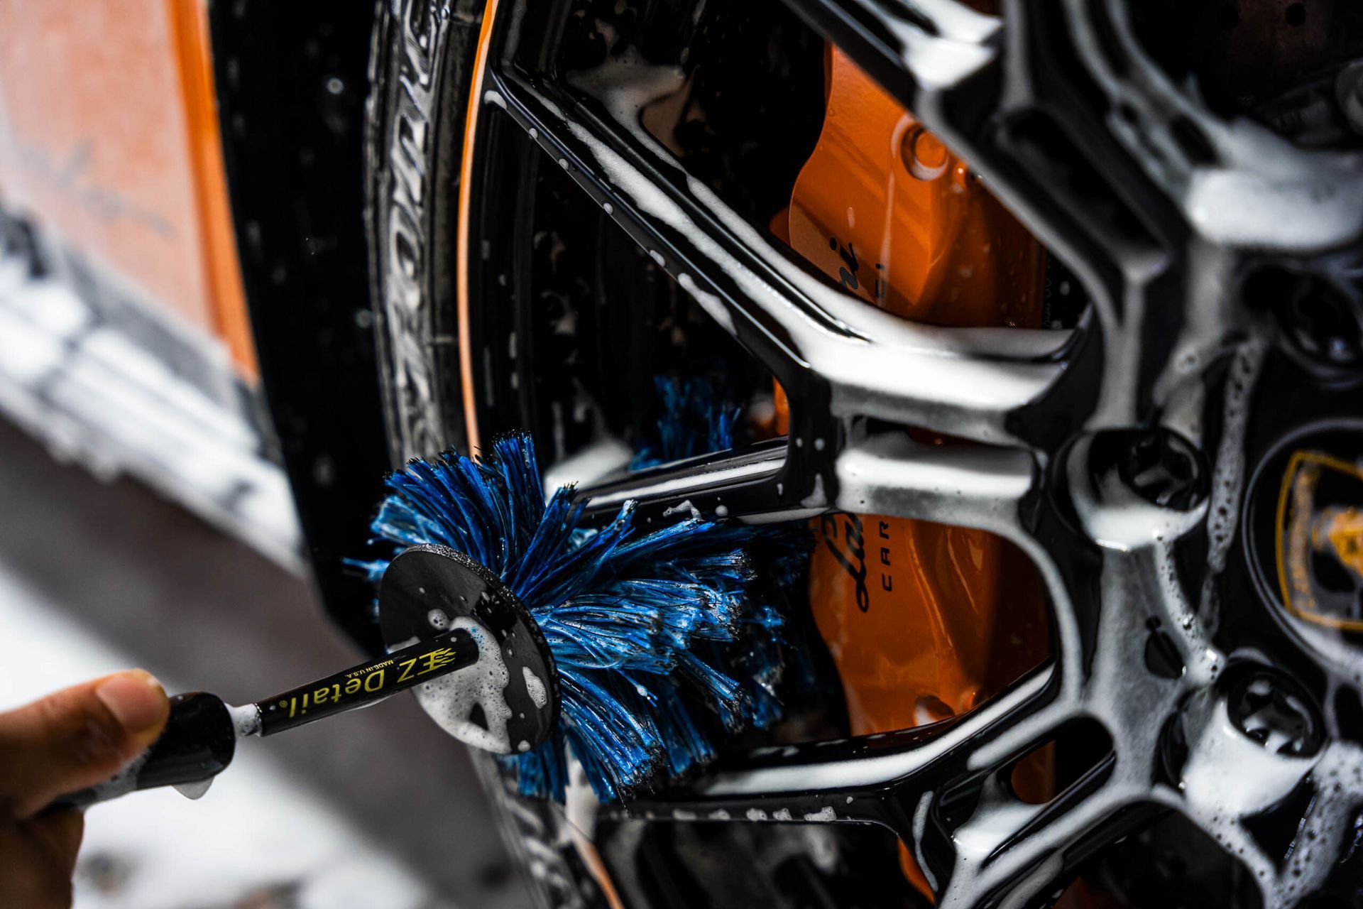
[[[878,823],[909,846],[951,905],[994,906],[1048,894],[1088,857],[1163,811],[1144,786],[1115,780],[1108,754],[1041,804],[1021,801],[1009,775],[1071,715],[1051,700],[1056,677],[1041,666],[955,721],[897,733],[767,747],[713,771],[684,792],[602,807],[646,820]],[[998,748],[1002,732],[1025,732]],[[992,745],[992,747],[991,747]]]

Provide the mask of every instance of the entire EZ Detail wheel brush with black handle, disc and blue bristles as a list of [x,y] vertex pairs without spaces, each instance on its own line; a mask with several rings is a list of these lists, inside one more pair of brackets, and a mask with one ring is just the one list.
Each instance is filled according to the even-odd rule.
[[[799,531],[692,518],[642,533],[632,503],[582,527],[586,503],[570,487],[545,502],[527,436],[481,459],[413,461],[387,485],[372,529],[393,556],[352,563],[378,582],[387,656],[245,707],[177,695],[146,754],[49,810],[204,789],[239,737],[406,688],[447,732],[512,762],[522,793],[559,800],[568,748],[613,800],[710,760],[718,736],[780,717],[773,598],[803,563]],[[759,582],[754,553],[777,585]]]

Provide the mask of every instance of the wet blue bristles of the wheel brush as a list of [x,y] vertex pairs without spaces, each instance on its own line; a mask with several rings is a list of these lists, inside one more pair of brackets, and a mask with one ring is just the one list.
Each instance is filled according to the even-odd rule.
[[[616,800],[711,760],[725,730],[780,717],[777,600],[782,582],[797,583],[792,566],[808,551],[807,534],[698,519],[642,533],[632,504],[583,529],[570,488],[545,502],[523,435],[480,461],[454,452],[413,461],[387,487],[371,525],[376,545],[395,555],[440,544],[477,559],[530,611],[553,651],[559,730],[504,758],[523,795],[562,800],[571,748],[597,796]],[[763,549],[770,576],[759,579],[750,546]],[[387,561],[350,564],[376,581]]]

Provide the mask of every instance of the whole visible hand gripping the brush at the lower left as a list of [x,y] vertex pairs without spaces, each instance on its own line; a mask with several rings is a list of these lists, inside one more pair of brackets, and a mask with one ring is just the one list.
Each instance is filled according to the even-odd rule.
[[78,811],[37,812],[117,774],[155,741],[169,715],[161,683],[140,669],[0,713],[0,906],[71,905],[85,819]]

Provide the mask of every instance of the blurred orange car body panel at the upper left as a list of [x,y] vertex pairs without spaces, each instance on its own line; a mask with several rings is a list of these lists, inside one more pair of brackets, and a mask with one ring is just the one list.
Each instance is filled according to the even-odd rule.
[[255,353],[202,0],[0,0],[0,195],[172,322]]

